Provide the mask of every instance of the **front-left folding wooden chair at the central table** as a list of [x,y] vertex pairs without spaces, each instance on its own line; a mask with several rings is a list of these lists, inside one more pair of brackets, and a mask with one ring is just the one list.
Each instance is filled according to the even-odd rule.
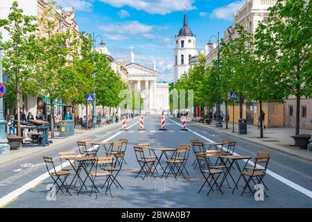
[[[139,172],[137,173],[137,176],[139,176],[140,173],[144,173],[144,178],[146,178],[146,176],[151,175],[154,178],[154,171],[152,171],[152,167],[155,168],[155,159],[153,158],[148,158],[144,155],[144,148],[140,147],[140,146],[135,146],[135,156],[137,157],[137,162],[139,163],[141,169],[139,170]],[[137,176],[135,176],[135,178],[137,178]],[[144,180],[144,178],[142,178],[142,180]]]

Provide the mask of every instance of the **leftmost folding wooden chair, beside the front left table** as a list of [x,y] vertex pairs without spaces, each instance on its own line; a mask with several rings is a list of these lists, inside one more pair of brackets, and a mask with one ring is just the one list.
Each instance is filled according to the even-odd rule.
[[[62,190],[62,187],[64,187],[67,193],[71,195],[68,188],[64,186],[64,183],[66,183],[67,177],[71,173],[69,171],[62,171],[62,170],[56,171],[52,157],[43,157],[43,158],[44,158],[44,163],[46,164],[46,169],[49,175],[51,176],[52,180],[54,181],[53,186],[56,185],[58,187],[58,190],[56,191],[55,194],[58,194],[58,191],[62,191],[62,193],[64,194],[64,191]],[[58,182],[60,182],[60,184]]]

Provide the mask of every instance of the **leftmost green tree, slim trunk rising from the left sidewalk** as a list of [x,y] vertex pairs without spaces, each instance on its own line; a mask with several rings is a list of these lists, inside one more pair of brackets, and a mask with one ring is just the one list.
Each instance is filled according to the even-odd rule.
[[10,39],[3,43],[3,70],[8,74],[8,87],[16,94],[17,135],[21,133],[19,103],[22,95],[36,94],[37,83],[33,80],[38,53],[35,31],[36,17],[23,14],[14,1],[8,19],[0,19],[0,27],[8,32]]

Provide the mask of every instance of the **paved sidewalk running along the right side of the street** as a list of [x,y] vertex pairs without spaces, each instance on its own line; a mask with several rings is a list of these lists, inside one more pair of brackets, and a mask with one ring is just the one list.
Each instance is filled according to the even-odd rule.
[[[216,128],[214,126],[214,121],[211,122],[210,125],[207,125],[206,123],[197,123],[197,122],[193,123],[198,124],[200,126],[205,126],[206,128],[210,128],[211,130],[215,130],[218,133],[224,133],[225,135],[230,135],[232,137],[244,139],[245,141],[266,146],[267,148],[271,148],[275,151],[286,153],[293,157],[298,157],[302,160],[312,162],[312,152],[307,151],[307,149],[294,146],[295,141],[291,137],[291,135],[295,135],[294,128],[266,128],[263,129],[264,138],[260,138],[260,129],[258,129],[257,126],[248,125],[247,126],[248,134],[239,135],[238,123],[234,123],[235,133],[232,133],[233,130],[232,123],[228,123],[229,129],[225,129],[225,123],[223,123],[223,128]],[[312,130],[300,130],[300,133],[312,135]]]

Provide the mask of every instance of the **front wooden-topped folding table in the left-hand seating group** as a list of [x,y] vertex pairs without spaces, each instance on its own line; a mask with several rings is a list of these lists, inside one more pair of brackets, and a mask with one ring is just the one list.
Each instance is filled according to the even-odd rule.
[[[89,178],[89,180],[92,181],[92,178],[90,178],[90,176],[89,176],[89,172],[94,167],[96,157],[87,157],[87,156],[85,156],[85,157],[64,157],[64,159],[69,161],[69,163],[71,164],[71,167],[73,167],[73,164],[71,163],[71,161],[79,162],[78,167],[73,167],[73,170],[75,171],[76,175],[73,177],[73,180],[71,180],[69,187],[71,187],[71,184],[73,183],[73,181],[75,180],[75,178],[77,176],[78,179],[82,182],[81,187],[78,191],[78,194],[80,194],[81,189],[83,189],[83,187],[85,186],[85,182],[86,182],[87,178]],[[92,165],[91,165],[90,169],[88,170],[86,162],[90,162],[90,161],[92,161]],[[80,172],[82,169],[83,169],[83,171],[85,171],[85,173],[87,173],[85,180],[83,180],[80,177]]]

